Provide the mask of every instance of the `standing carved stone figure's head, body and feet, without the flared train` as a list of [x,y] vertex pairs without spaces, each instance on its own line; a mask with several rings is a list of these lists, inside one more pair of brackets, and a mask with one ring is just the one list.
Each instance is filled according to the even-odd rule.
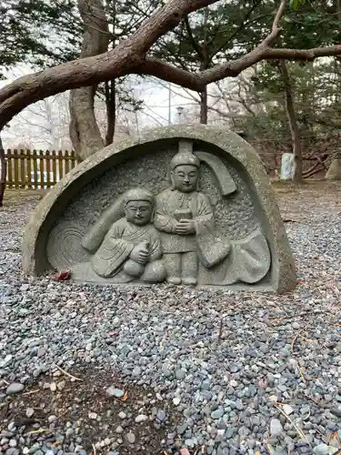
[[180,151],[170,162],[172,186],[156,197],[154,224],[161,232],[167,281],[196,285],[196,235],[214,224],[209,198],[198,191],[199,159]]

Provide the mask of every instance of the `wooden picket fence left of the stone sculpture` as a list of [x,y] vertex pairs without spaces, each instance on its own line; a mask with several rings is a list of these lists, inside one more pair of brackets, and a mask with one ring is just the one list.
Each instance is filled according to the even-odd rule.
[[75,165],[74,151],[7,150],[6,187],[49,188],[65,176]]

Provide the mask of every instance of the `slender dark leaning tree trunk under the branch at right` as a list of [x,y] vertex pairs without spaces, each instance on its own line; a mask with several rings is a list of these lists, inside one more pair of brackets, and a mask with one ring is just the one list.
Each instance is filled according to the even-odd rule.
[[286,116],[290,126],[291,132],[291,140],[293,145],[293,153],[294,153],[294,174],[293,174],[293,181],[298,183],[302,182],[302,147],[301,147],[301,139],[299,135],[299,128],[295,114],[295,108],[293,103],[293,92],[292,86],[290,84],[289,74],[286,67],[285,60],[281,60],[280,62],[280,70],[283,76],[283,83],[285,88],[285,98],[286,98]]

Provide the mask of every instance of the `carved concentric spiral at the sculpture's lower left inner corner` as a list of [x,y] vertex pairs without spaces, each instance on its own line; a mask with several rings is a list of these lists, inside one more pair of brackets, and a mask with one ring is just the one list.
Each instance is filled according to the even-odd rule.
[[77,224],[59,223],[47,239],[47,259],[56,269],[70,268],[89,260],[89,253],[82,247],[85,229]]

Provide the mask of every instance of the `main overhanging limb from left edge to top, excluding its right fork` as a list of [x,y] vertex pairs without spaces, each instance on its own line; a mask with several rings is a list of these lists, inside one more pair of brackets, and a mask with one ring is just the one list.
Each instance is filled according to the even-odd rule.
[[170,0],[115,49],[21,77],[5,86],[0,90],[0,130],[18,112],[39,99],[125,76],[142,63],[145,53],[160,36],[172,30],[189,13],[217,1]]

